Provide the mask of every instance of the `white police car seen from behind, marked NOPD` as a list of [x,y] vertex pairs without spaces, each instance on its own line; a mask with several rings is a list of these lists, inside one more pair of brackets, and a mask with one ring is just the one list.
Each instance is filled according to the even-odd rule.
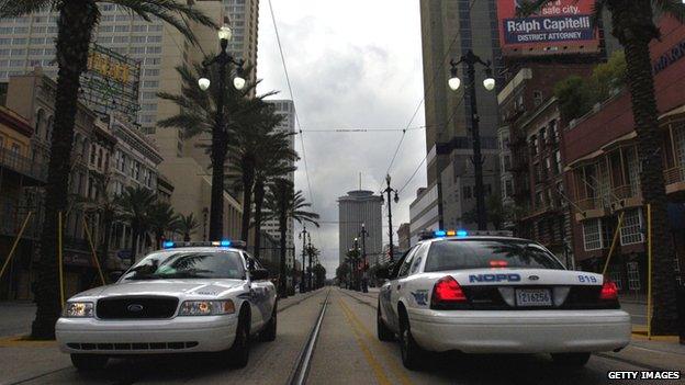
[[[591,352],[630,341],[630,316],[600,274],[565,270],[537,242],[435,231],[379,278],[378,338],[398,335],[402,361],[424,351],[551,353],[582,366]],[[502,231],[498,231],[502,233]]]

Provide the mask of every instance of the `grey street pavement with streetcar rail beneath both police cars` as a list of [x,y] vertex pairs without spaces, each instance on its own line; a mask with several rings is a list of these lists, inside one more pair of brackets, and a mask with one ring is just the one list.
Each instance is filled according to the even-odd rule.
[[[658,350],[650,353],[644,351],[650,350],[649,347],[631,346],[624,352],[630,354],[631,349],[642,349],[643,355],[652,355],[658,361],[638,363],[624,352],[606,353],[593,355],[585,369],[572,371],[560,370],[546,355],[449,353],[433,356],[425,371],[412,372],[402,365],[396,342],[380,342],[375,337],[377,293],[324,287],[281,301],[277,340],[252,342],[250,361],[245,369],[231,369],[213,355],[178,355],[112,360],[105,370],[83,374],[71,366],[69,356],[58,352],[54,342],[3,338],[0,340],[0,372],[3,373],[0,383],[284,384],[296,374],[294,369],[303,359],[301,352],[324,303],[327,306],[321,331],[308,369],[305,369],[310,384],[606,384],[610,370],[685,370],[683,355]],[[3,313],[2,321],[8,318]]]

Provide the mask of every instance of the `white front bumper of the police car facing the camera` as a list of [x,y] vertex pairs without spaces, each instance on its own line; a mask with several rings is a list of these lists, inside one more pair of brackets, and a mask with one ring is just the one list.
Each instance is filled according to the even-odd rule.
[[65,353],[214,352],[233,346],[237,322],[236,315],[144,320],[59,318],[55,335]]

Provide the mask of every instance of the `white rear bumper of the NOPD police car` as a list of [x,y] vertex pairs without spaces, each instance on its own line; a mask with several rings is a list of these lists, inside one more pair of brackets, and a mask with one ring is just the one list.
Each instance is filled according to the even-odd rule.
[[430,351],[599,352],[630,342],[630,316],[609,310],[430,310],[409,313],[412,335]]

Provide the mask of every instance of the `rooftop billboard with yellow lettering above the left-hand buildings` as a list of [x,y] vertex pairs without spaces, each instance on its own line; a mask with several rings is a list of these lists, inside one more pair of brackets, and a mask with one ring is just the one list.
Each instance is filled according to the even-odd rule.
[[98,44],[88,53],[88,70],[81,76],[81,99],[101,115],[120,113],[137,120],[141,63]]

